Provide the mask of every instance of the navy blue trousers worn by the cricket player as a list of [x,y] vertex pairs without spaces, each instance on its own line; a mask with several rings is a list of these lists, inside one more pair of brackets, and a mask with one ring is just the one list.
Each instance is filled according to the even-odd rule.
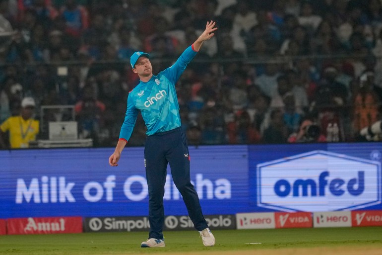
[[163,196],[168,164],[170,164],[173,181],[183,196],[195,229],[201,231],[207,228],[199,197],[191,184],[190,154],[182,128],[148,136],[144,158],[149,193],[149,238],[163,239]]

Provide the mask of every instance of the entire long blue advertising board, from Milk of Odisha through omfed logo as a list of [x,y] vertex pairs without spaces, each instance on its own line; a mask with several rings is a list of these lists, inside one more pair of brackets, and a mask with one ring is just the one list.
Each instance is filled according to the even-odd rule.
[[[382,143],[190,147],[205,215],[382,209]],[[143,148],[0,151],[0,218],[148,213]],[[187,215],[167,169],[165,214]]]

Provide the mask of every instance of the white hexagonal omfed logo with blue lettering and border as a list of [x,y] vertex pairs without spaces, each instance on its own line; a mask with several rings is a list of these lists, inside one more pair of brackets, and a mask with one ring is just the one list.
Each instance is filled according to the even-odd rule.
[[312,151],[257,165],[257,205],[336,211],[381,203],[381,163]]

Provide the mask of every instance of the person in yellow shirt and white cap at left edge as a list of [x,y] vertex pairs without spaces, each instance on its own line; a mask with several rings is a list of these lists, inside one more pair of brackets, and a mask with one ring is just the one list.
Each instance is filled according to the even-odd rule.
[[11,149],[28,148],[29,142],[35,141],[39,133],[40,123],[33,119],[36,103],[33,97],[24,97],[21,101],[21,111],[17,116],[7,118],[0,125],[0,147],[7,148],[4,133],[9,132]]

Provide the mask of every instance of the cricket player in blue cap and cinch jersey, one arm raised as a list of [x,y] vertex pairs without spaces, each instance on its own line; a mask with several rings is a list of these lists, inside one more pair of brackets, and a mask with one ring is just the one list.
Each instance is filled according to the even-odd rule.
[[109,164],[113,167],[118,166],[121,152],[131,136],[139,110],[147,127],[144,161],[150,222],[148,240],[142,242],[141,247],[165,247],[162,233],[163,195],[168,164],[174,183],[183,196],[189,216],[195,229],[199,231],[204,246],[215,244],[215,238],[203,217],[195,188],[191,184],[190,154],[187,138],[181,128],[175,84],[202,43],[211,39],[216,29],[214,21],[207,22],[203,33],[182,53],[175,64],[157,76],[152,73],[149,54],[135,52],[130,57],[132,71],[139,76],[140,82],[128,94],[125,121],[116,149],[109,158]]

